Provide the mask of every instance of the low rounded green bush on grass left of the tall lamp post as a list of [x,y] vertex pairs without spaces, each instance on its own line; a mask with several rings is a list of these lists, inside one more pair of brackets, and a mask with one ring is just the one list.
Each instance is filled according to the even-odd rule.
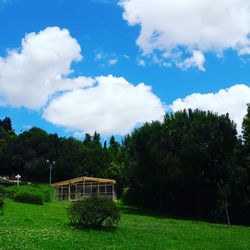
[[23,203],[43,205],[42,194],[35,192],[19,191],[14,195],[13,200]]

